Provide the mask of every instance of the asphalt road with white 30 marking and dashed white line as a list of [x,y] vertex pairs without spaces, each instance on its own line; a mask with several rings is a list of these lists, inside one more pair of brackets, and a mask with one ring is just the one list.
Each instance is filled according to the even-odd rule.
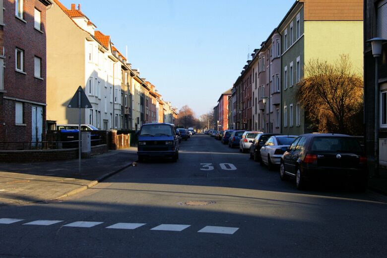
[[195,135],[176,163],[138,163],[60,203],[0,207],[0,257],[385,258],[384,200],[298,191],[248,154]]

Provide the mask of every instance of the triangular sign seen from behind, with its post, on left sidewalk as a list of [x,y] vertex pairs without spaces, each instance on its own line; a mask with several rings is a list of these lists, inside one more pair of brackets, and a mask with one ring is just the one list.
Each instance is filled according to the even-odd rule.
[[91,108],[93,107],[82,87],[79,86],[78,90],[76,90],[74,97],[72,97],[71,101],[67,105],[68,108],[78,108],[79,117],[78,117],[78,173],[81,173],[81,108]]

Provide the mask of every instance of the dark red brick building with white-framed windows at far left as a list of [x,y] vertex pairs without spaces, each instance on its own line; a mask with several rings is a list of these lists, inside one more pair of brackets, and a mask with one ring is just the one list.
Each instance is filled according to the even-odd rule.
[[1,2],[0,142],[38,142],[46,131],[46,10],[52,1]]

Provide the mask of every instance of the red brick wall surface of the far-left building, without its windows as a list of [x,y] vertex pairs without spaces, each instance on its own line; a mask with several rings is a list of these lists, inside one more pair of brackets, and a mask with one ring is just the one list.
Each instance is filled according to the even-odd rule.
[[[24,0],[24,17],[22,21],[15,17],[15,0],[4,0],[3,44],[5,47],[4,97],[25,101],[46,103],[46,8],[39,0]],[[41,11],[41,32],[34,29],[34,8]],[[15,48],[24,51],[24,71],[15,71]],[[41,77],[34,78],[34,56],[42,58]],[[1,97],[1,96],[0,96]],[[3,100],[0,109],[0,142],[31,141],[32,104],[24,103],[24,123],[15,126],[15,103]],[[5,123],[5,125],[3,125]],[[46,107],[43,106],[43,132],[46,131]],[[6,137],[6,138],[5,138]]]

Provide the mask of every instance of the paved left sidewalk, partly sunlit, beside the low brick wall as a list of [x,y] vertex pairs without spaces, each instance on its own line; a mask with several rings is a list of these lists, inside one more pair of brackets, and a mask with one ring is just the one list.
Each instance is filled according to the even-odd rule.
[[36,163],[0,163],[0,206],[46,202],[75,194],[131,166],[137,148],[82,159]]

